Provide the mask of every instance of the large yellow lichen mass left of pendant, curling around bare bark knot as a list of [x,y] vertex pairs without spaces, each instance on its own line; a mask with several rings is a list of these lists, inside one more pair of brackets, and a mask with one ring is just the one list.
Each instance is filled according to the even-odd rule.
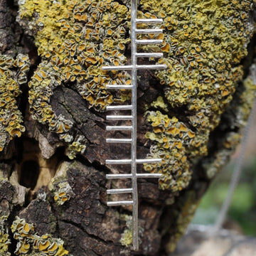
[[113,97],[105,90],[105,84],[129,84],[129,75],[102,73],[101,66],[124,65],[127,60],[127,7],[112,0],[26,0],[19,13],[20,23],[26,21],[35,36],[43,60],[28,84],[32,117],[67,142],[73,159],[85,151],[85,139],[73,138],[69,133],[73,122],[54,112],[50,97],[56,87],[72,83],[89,107],[97,110],[123,100],[122,95]]

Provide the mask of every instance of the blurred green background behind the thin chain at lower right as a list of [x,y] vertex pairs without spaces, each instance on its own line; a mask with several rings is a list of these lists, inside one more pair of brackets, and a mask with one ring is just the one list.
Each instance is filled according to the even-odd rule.
[[[242,173],[228,210],[224,228],[256,236],[256,114],[250,125]],[[203,196],[192,224],[213,225],[228,193],[230,178],[240,154],[240,146],[230,163],[223,168]]]

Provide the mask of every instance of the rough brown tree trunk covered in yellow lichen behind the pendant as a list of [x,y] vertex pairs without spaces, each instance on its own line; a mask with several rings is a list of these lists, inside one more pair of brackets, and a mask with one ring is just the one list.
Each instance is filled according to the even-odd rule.
[[[163,18],[162,45],[138,46],[164,58],[166,70],[138,72],[139,251],[132,249],[132,208],[107,207],[129,194],[129,146],[107,144],[106,107],[129,104],[127,0],[0,1],[0,254],[168,255],[210,181],[240,141],[256,91],[254,1],[141,0],[139,18]],[[152,28],[141,25],[141,28]],[[251,67],[251,68],[250,68]],[[118,114],[118,112],[114,112]],[[130,114],[125,110],[124,114]]]

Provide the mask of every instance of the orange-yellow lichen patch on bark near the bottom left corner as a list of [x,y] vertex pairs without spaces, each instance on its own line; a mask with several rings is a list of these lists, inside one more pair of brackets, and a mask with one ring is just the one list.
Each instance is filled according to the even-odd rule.
[[51,235],[36,235],[33,224],[16,217],[11,225],[14,239],[17,240],[16,255],[27,256],[63,256],[68,251],[63,248],[63,240],[52,238]]

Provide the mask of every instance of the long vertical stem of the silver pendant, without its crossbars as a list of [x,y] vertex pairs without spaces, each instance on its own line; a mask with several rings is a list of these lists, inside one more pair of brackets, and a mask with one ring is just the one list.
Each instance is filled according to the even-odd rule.
[[132,39],[132,243],[134,250],[139,250],[138,238],[138,188],[137,188],[137,0],[131,6],[131,39]]

